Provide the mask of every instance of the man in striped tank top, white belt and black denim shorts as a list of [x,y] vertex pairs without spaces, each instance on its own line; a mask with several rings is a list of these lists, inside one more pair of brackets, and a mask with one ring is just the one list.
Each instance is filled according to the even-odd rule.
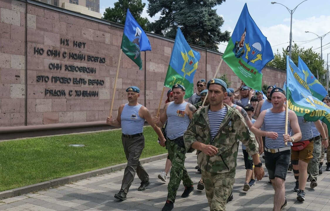
[[[269,96],[273,107],[260,113],[251,131],[256,136],[266,137],[265,166],[275,190],[274,211],[279,211],[287,205],[284,182],[290,162],[291,142],[299,141],[301,132],[297,115],[289,110],[288,134],[285,134],[285,107],[283,107],[286,101],[285,92],[276,87],[270,91]],[[264,126],[263,131],[260,130],[262,125]],[[293,136],[289,135],[291,131],[294,133]]]

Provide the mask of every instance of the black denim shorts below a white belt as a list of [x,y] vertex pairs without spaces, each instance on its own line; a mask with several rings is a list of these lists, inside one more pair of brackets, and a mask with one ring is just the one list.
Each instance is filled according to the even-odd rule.
[[285,150],[277,153],[265,151],[265,166],[267,168],[269,179],[279,177],[285,181],[286,172],[290,163],[291,150]]

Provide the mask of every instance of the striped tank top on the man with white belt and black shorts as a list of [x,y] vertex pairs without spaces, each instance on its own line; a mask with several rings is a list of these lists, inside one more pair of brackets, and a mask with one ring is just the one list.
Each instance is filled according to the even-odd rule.
[[[289,111],[290,112],[293,111]],[[277,139],[271,139],[266,136],[265,138],[265,147],[268,149],[277,149],[285,147],[283,134],[285,133],[285,111],[281,113],[273,113],[270,108],[267,109],[266,115],[264,118],[265,131],[276,132],[279,136]],[[290,122],[288,122],[288,134],[291,133]],[[291,142],[287,143],[288,146],[292,146]]]

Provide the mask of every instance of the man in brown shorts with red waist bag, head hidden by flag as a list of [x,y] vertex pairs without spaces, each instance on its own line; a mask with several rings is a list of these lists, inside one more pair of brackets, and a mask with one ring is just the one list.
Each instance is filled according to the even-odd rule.
[[[303,116],[298,116],[298,123],[302,134],[301,140],[297,142],[295,141],[294,143],[294,145],[297,144],[299,146],[293,146],[291,148],[292,171],[294,173],[294,178],[296,179],[296,186],[293,188],[293,191],[297,192],[298,201],[305,201],[304,190],[307,182],[307,166],[313,157],[314,139],[312,125],[315,125],[317,131],[322,137],[326,137],[326,135],[320,120],[314,122],[313,124],[313,122],[307,122]],[[291,134],[293,133],[291,132]],[[328,143],[327,139],[322,141],[322,144],[325,143]],[[315,183],[313,182],[313,186],[315,185],[316,187],[317,183]]]

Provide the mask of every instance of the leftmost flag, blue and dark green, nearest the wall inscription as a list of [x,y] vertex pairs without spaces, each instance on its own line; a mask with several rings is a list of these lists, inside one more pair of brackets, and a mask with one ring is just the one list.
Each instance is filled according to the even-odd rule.
[[135,62],[142,70],[141,51],[151,50],[151,45],[146,33],[136,22],[133,15],[127,9],[123,38],[121,40],[122,51]]

